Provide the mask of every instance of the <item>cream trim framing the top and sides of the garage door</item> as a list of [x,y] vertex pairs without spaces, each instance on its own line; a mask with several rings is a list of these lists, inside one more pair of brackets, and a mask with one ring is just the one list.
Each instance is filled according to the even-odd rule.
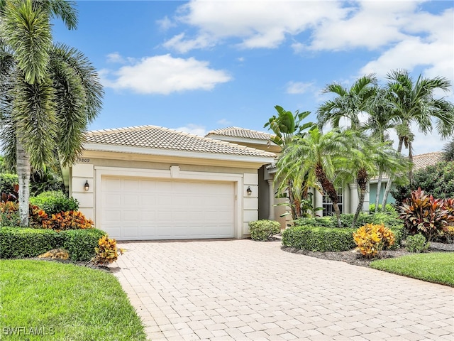
[[[169,170],[156,170],[156,169],[138,169],[138,168],[117,168],[106,166],[95,166],[95,202],[96,212],[94,220],[96,226],[101,226],[101,190],[102,183],[101,177],[103,175],[124,176],[134,178],[155,178],[155,179],[172,179],[172,173]],[[234,231],[235,237],[241,238],[243,236],[242,222],[243,222],[243,196],[239,195],[239,190],[243,188],[243,175],[231,173],[203,173],[194,171],[179,171],[179,180],[209,180],[219,182],[234,183],[235,195],[235,217],[234,217]]]

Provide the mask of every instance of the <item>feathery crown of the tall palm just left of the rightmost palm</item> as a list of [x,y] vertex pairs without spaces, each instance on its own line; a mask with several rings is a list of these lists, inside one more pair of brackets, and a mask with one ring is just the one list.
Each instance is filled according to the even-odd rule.
[[336,82],[327,85],[322,93],[332,92],[337,97],[325,102],[317,110],[319,127],[322,128],[326,123],[330,123],[333,128],[338,128],[341,119],[345,118],[350,121],[350,128],[358,128],[360,126],[358,115],[361,112],[367,112],[377,92],[376,84],[375,75],[365,75],[356,80],[350,89]]

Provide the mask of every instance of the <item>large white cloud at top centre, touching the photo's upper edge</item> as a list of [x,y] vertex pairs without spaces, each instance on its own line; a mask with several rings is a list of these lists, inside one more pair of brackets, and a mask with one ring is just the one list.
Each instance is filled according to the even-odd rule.
[[277,48],[287,35],[297,35],[327,18],[344,13],[324,1],[198,1],[180,7],[176,20],[198,29],[195,38],[179,34],[165,43],[177,51],[206,48],[226,38],[239,38],[240,48]]

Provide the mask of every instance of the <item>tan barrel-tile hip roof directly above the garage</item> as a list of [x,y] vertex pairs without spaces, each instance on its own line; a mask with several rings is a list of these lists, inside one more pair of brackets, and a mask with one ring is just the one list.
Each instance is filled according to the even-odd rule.
[[88,131],[87,144],[133,146],[199,153],[274,158],[275,154],[225,141],[163,128],[161,126],[131,126],[119,129]]

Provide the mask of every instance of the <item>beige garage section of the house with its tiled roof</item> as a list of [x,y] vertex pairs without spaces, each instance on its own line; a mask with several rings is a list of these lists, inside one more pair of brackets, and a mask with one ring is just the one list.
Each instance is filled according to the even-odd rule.
[[89,131],[69,192],[118,240],[243,238],[258,220],[258,170],[276,155],[166,129]]

